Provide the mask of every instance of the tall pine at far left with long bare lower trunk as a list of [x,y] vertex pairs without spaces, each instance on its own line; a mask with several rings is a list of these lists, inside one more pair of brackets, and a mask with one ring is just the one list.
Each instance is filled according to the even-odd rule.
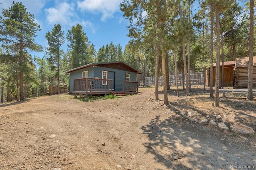
[[24,100],[24,51],[41,51],[42,47],[34,42],[36,32],[40,31],[40,26],[35,22],[33,14],[26,12],[25,6],[21,2],[13,2],[8,9],[2,10],[4,18],[0,16],[0,38],[4,48],[19,55],[18,75],[20,87],[20,100]]

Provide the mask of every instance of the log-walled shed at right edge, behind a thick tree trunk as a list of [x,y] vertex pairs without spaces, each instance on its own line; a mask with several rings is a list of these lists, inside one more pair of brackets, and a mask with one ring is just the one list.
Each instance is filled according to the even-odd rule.
[[[248,62],[249,57],[236,58],[233,89],[247,89]],[[253,57],[253,89],[256,89],[256,56]]]

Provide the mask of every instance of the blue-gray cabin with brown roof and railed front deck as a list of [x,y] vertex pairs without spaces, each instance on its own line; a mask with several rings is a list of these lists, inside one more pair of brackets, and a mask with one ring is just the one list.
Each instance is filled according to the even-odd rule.
[[72,94],[134,94],[138,93],[137,75],[140,71],[124,61],[90,63],[66,71]]

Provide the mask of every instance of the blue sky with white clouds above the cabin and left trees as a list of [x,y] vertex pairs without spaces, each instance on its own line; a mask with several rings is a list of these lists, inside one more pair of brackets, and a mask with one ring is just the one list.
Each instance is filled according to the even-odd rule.
[[[121,0],[20,0],[27,11],[35,16],[40,25],[35,42],[47,47],[46,33],[52,31],[55,24],[60,24],[65,36],[72,26],[81,24],[88,40],[95,45],[96,51],[103,45],[120,44],[124,50],[130,38],[126,35],[128,20],[119,9]],[[0,0],[0,8],[11,6],[12,0]],[[2,13],[0,14],[2,16]],[[66,42],[65,42],[66,43]],[[66,44],[62,49],[66,52]],[[32,53],[33,57],[42,57],[44,53]]]

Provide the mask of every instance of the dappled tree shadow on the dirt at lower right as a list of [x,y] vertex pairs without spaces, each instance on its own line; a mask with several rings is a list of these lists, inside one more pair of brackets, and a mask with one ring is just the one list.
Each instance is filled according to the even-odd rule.
[[[167,169],[210,170],[230,169],[232,164],[256,165],[252,153],[236,148],[236,144],[229,144],[218,131],[204,126],[171,118],[161,121],[156,116],[141,129],[149,139],[143,143],[147,148],[145,154],[153,154],[156,162]],[[250,156],[252,159],[248,160]]]

